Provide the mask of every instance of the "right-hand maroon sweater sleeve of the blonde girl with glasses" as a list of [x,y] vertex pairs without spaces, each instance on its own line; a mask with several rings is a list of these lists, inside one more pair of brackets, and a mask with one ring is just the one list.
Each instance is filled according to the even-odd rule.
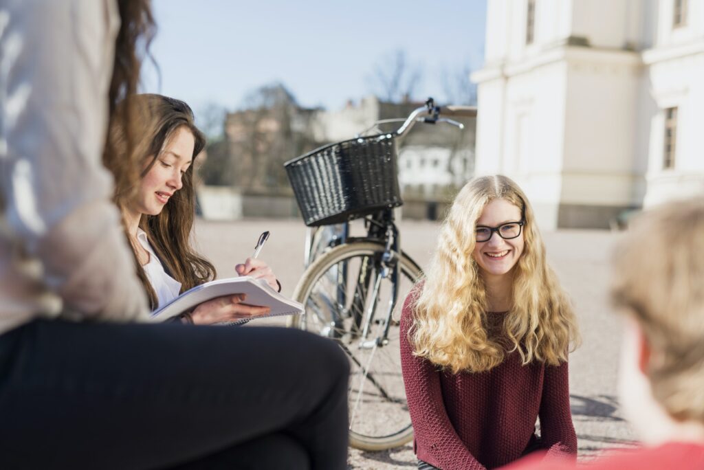
[[541,441],[548,450],[546,460],[577,456],[577,435],[570,412],[570,375],[567,362],[546,365],[540,410]]

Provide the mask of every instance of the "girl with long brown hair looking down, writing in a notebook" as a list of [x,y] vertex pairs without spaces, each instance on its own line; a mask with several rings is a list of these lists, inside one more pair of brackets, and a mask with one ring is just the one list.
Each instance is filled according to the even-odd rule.
[[[105,165],[115,174],[115,203],[122,212],[125,231],[141,269],[137,274],[149,296],[152,310],[179,293],[215,279],[215,267],[191,246],[195,217],[194,160],[205,146],[205,138],[194,124],[191,108],[183,101],[157,94],[130,99],[139,111],[134,134],[139,137],[137,155],[124,155],[126,132],[122,122],[113,122],[108,144],[115,148]],[[123,103],[122,106],[125,106]],[[135,185],[120,176],[130,171],[130,161],[139,165]],[[265,279],[272,288],[280,285],[262,260],[247,258],[235,267],[240,275]],[[202,303],[182,320],[213,324],[256,317],[268,307],[246,305],[241,295]]]

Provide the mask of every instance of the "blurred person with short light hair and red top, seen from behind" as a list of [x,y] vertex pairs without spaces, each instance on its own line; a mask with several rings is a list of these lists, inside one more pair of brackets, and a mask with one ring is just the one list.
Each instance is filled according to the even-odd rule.
[[620,402],[643,445],[584,468],[704,469],[704,198],[641,215],[617,244],[611,285],[624,316]]

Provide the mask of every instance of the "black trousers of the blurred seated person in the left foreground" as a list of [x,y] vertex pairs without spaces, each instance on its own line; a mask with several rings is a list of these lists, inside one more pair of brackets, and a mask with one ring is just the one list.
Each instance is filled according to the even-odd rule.
[[0,469],[344,469],[348,367],[293,329],[34,321],[0,336]]

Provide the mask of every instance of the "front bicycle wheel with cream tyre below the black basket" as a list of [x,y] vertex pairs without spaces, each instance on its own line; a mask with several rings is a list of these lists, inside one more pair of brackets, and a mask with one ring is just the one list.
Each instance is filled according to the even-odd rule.
[[396,255],[398,302],[388,342],[377,343],[386,328],[394,287],[389,269],[384,271],[383,253],[380,243],[358,241],[322,255],[306,269],[294,292],[306,313],[290,322],[334,338],[350,358],[350,444],[363,450],[390,449],[413,438],[401,376],[398,320],[420,268],[406,255]]

